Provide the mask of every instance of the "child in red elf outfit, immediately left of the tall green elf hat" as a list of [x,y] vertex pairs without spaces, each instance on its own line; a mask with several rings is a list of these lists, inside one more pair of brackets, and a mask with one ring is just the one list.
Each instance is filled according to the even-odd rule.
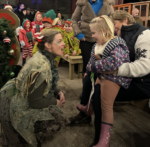
[[41,32],[43,30],[42,19],[43,19],[42,13],[37,11],[34,17],[34,21],[32,22],[34,33]]

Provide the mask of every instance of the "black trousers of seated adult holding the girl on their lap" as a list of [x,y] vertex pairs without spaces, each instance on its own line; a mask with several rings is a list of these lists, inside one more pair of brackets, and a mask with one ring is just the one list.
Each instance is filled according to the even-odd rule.
[[[95,76],[96,78],[96,76]],[[81,98],[81,104],[86,105],[90,92],[91,92],[91,80],[90,75],[87,75],[83,82],[83,92]],[[85,94],[86,93],[86,94]],[[89,94],[89,95],[88,95]],[[128,89],[120,88],[119,93],[115,101],[132,101],[132,100],[142,100],[149,99],[149,96],[141,92],[138,87],[131,82]],[[101,125],[101,102],[100,102],[100,85],[95,85],[95,92],[92,96],[93,108],[95,114],[95,140],[94,143],[97,144],[100,136],[100,125]]]

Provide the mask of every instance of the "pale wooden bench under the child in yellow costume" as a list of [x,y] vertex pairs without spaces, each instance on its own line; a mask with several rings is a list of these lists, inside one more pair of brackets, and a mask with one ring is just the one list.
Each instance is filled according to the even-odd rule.
[[69,79],[74,79],[74,64],[78,64],[78,78],[82,78],[82,69],[83,69],[83,60],[82,56],[69,56],[66,59],[64,56],[62,57],[64,60],[69,62]]

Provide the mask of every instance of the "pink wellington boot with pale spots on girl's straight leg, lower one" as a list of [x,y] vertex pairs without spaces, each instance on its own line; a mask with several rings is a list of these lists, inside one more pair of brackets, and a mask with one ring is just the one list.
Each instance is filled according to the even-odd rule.
[[99,142],[97,145],[93,147],[109,147],[110,140],[110,131],[112,128],[112,124],[101,123],[101,134],[99,138]]

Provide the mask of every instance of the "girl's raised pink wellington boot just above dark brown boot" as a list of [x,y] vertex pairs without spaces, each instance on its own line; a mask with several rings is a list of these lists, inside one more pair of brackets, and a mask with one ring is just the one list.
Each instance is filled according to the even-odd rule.
[[[89,107],[89,108],[88,108]],[[91,116],[93,114],[93,104],[90,101],[86,106],[83,106],[81,104],[77,105],[77,108],[84,112],[86,115]]]

